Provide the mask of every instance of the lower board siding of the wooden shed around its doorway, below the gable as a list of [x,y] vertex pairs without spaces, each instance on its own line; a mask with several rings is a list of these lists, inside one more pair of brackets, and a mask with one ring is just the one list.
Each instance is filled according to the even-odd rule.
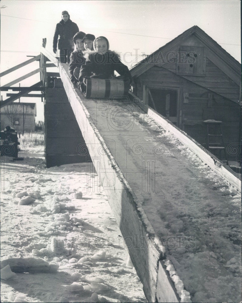
[[[207,62],[210,66],[214,66],[209,60]],[[214,68],[216,68],[216,66]],[[217,94],[210,90],[210,85],[214,85],[211,80],[215,79],[216,82],[214,83],[221,86],[220,92],[223,91],[225,96],[235,99],[238,97],[239,92],[237,91],[237,93],[234,94],[232,94],[232,92],[236,92],[235,89],[237,85],[225,74],[223,74],[223,79],[225,79],[223,81],[226,81],[225,86],[231,86],[230,88],[224,88],[224,83],[220,84],[220,78],[216,77],[209,76],[209,85],[206,85],[207,88],[197,85],[186,78],[176,75],[166,68],[153,66],[137,77],[137,96],[143,100],[144,87],[179,89],[178,111],[180,115],[177,125],[182,130],[186,131],[188,135],[193,137],[201,145],[205,145],[206,129],[203,121],[207,119],[220,120],[223,122],[222,130],[225,148],[230,143],[238,143],[239,127],[235,129],[234,125],[239,125],[239,105],[221,96],[221,93]],[[195,78],[195,76],[193,78]],[[206,79],[207,77],[199,78]],[[184,94],[188,96],[187,103],[184,103]],[[211,101],[208,100],[208,94],[211,95]],[[145,102],[145,104],[147,104],[147,102]],[[232,155],[229,155],[229,157],[230,160],[236,161]]]

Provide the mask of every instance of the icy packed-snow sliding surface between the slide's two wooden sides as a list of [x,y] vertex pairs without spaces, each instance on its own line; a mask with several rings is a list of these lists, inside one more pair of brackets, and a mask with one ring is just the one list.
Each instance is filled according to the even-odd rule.
[[117,102],[83,103],[109,143],[117,174],[138,197],[147,230],[166,248],[181,300],[188,291],[193,302],[240,302],[241,194],[135,104],[128,111]]

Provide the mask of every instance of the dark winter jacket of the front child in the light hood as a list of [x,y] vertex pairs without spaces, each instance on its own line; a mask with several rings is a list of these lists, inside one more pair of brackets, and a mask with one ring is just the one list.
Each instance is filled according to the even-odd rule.
[[108,79],[114,74],[114,71],[118,72],[125,81],[131,82],[131,73],[128,67],[119,60],[115,52],[108,51],[104,55],[91,52],[85,65],[81,66],[79,81],[81,82],[83,78],[90,77],[91,75]]

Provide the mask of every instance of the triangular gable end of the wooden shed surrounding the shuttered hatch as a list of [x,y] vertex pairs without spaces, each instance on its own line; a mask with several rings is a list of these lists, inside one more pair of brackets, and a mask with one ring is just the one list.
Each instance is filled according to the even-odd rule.
[[[239,85],[241,82],[240,63],[197,26],[188,29],[171,42],[159,48],[148,58],[135,65],[131,69],[131,74],[138,77],[149,71],[149,69],[157,72],[158,66],[177,74],[177,56],[179,51],[184,50],[186,47],[191,50],[193,48],[204,48],[204,60],[206,61],[205,74],[198,75],[194,73],[194,75],[185,75],[180,73],[181,78],[186,78],[191,82],[197,83],[204,88],[210,89],[238,103]],[[181,68],[188,66],[186,63],[183,64],[184,67],[180,63],[178,65],[180,65]],[[188,69],[189,68],[188,66]],[[155,77],[156,76],[154,76],[154,78]],[[229,83],[231,86],[224,86],[223,82]],[[228,89],[226,90],[225,88]]]

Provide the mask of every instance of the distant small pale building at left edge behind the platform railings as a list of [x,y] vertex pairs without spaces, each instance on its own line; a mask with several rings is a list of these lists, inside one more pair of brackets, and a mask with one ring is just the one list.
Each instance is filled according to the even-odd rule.
[[1,108],[1,131],[11,126],[17,132],[34,132],[36,103],[13,102]]

